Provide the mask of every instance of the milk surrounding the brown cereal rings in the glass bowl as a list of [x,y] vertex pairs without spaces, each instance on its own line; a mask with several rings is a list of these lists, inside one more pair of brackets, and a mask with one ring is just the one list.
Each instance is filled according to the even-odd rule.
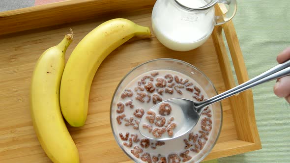
[[[144,109],[144,111],[146,112],[146,111],[148,111],[151,107],[155,106],[155,104],[152,103],[152,99],[151,99],[151,101],[150,101],[149,103],[146,103],[146,102],[145,102],[145,103],[141,103],[141,102],[139,102],[138,100],[136,100],[136,99],[135,99],[135,97],[136,97],[136,92],[134,91],[134,88],[138,86],[138,85],[137,85],[137,81],[140,81],[140,80],[142,79],[142,77],[144,77],[145,75],[150,76],[150,74],[151,74],[152,72],[159,72],[159,75],[155,76],[155,77],[154,77],[154,81],[152,81],[153,84],[154,84],[154,86],[155,86],[155,83],[156,83],[155,80],[156,80],[157,78],[164,78],[164,76],[165,76],[166,74],[177,75],[177,76],[179,76],[179,79],[180,79],[180,78],[182,78],[183,80],[185,80],[185,79],[189,79],[189,82],[193,82],[194,85],[198,86],[198,87],[201,89],[201,94],[204,95],[204,98],[208,99],[207,94],[205,93],[205,91],[202,89],[202,87],[201,87],[201,86],[200,86],[196,81],[194,81],[194,80],[192,80],[191,78],[189,78],[188,76],[186,76],[186,75],[184,75],[184,74],[181,74],[181,73],[178,73],[178,72],[176,72],[176,71],[172,71],[172,70],[155,70],[155,71],[149,71],[149,72],[146,72],[145,74],[142,74],[142,75],[138,76],[137,78],[135,78],[134,80],[132,80],[128,85],[122,85],[122,89],[123,89],[123,90],[124,90],[124,89],[131,89],[131,90],[133,90],[134,95],[133,95],[132,97],[126,97],[126,98],[122,99],[120,96],[121,96],[121,93],[122,93],[123,91],[121,91],[119,94],[116,94],[116,96],[117,96],[118,98],[117,98],[116,100],[114,100],[114,102],[113,102],[113,105],[115,106],[115,107],[114,107],[115,109],[112,110],[112,115],[111,115],[111,116],[113,117],[113,124],[112,124],[112,126],[113,126],[113,130],[114,130],[115,133],[116,133],[116,139],[117,139],[117,141],[118,141],[120,144],[123,144],[123,142],[127,142],[127,143],[128,143],[128,140],[127,140],[127,141],[123,141],[123,140],[121,140],[120,136],[118,135],[119,133],[121,133],[123,136],[125,136],[125,134],[126,134],[127,132],[129,132],[130,135],[131,135],[131,134],[137,134],[139,139],[144,138],[144,136],[141,135],[141,133],[139,132],[139,130],[135,130],[135,129],[133,128],[133,126],[125,126],[125,121],[124,121],[124,120],[122,120],[122,123],[121,123],[120,125],[117,123],[117,121],[116,121],[116,117],[117,117],[118,115],[120,115],[121,113],[117,113],[117,112],[116,112],[116,109],[117,109],[116,104],[119,103],[119,102],[122,102],[123,104],[125,104],[126,102],[128,102],[128,101],[130,101],[130,100],[133,101],[132,104],[134,105],[134,109],[130,109],[129,106],[125,106],[124,112],[122,112],[122,113],[126,114],[126,118],[134,117],[133,114],[134,114],[135,109],[140,109],[140,108],[142,108],[142,109]],[[145,90],[144,92],[148,93],[146,90]],[[167,99],[170,99],[170,98],[176,98],[176,97],[193,99],[193,97],[192,97],[192,96],[193,96],[193,93],[192,93],[192,92],[190,92],[190,91],[186,91],[186,90],[182,90],[182,92],[183,92],[182,95],[176,93],[175,90],[174,90],[174,94],[172,94],[172,95],[171,95],[171,94],[168,94],[168,93],[163,93],[163,95],[162,95],[162,100],[167,100]],[[155,90],[153,93],[149,93],[149,94],[152,96],[152,95],[155,94],[155,93],[156,93],[156,90]],[[194,100],[194,99],[193,99],[193,100]],[[173,107],[173,106],[172,106],[172,107]],[[208,109],[211,110],[212,107],[209,106]],[[174,109],[174,110],[175,110],[175,109]],[[169,117],[174,116],[174,120],[176,119],[176,121],[173,121],[173,122],[175,122],[175,123],[177,124],[178,127],[182,127],[182,126],[183,126],[182,124],[186,123],[186,121],[180,121],[180,119],[182,119],[182,118],[179,117],[179,116],[182,116],[181,113],[180,113],[180,112],[175,112],[175,111],[178,111],[178,110],[175,110],[175,111],[174,111],[174,110],[171,112],[171,114],[170,114]],[[156,116],[157,116],[157,114],[156,114]],[[166,117],[166,119],[169,119],[169,117]],[[201,120],[203,119],[203,117],[205,117],[205,115],[202,115],[202,116],[201,116],[201,118],[200,118],[200,120],[198,121],[197,125],[196,125],[196,126],[195,126],[191,131],[190,131],[190,132],[193,132],[193,133],[195,133],[195,134],[199,134],[198,131],[199,131],[199,130],[202,130],[202,128],[201,128]],[[136,117],[134,117],[134,119],[140,120],[140,119],[138,119],[138,118],[136,118]],[[179,120],[178,120],[178,119],[179,119]],[[214,122],[213,117],[211,117],[211,119],[212,119],[212,122]],[[140,123],[140,124],[141,124],[141,123]],[[137,127],[138,127],[138,126],[137,126]],[[214,127],[214,125],[212,125],[212,127]],[[178,128],[177,128],[177,130],[178,130]],[[212,130],[213,130],[213,129],[212,129]],[[173,131],[174,131],[174,133],[176,132],[175,130],[173,130]],[[211,141],[211,133],[212,133],[212,131],[209,132],[209,135],[208,135],[208,141],[206,142],[205,146],[207,145],[207,143],[208,143],[209,141]],[[199,135],[200,135],[200,134],[199,134]],[[163,146],[158,146],[158,147],[156,147],[156,149],[152,149],[152,148],[151,148],[151,145],[152,145],[151,143],[156,143],[156,141],[152,141],[152,140],[150,140],[150,147],[148,147],[148,148],[142,148],[142,149],[143,149],[143,153],[146,153],[146,152],[147,152],[147,153],[150,154],[151,157],[153,157],[153,156],[158,156],[158,155],[160,154],[162,157],[166,157],[166,158],[168,157],[169,154],[172,154],[172,153],[180,154],[180,152],[184,152],[184,151],[185,151],[185,149],[184,149],[184,146],[185,146],[184,139],[187,139],[188,136],[189,136],[189,134],[186,134],[186,135],[184,135],[184,136],[180,136],[180,137],[178,137],[178,138],[176,138],[176,139],[172,139],[172,140],[169,140],[169,141],[165,141],[165,145],[163,145]],[[128,155],[130,155],[131,157],[137,159],[137,158],[136,158],[136,157],[131,153],[131,150],[132,150],[135,146],[139,146],[139,147],[140,147],[140,141],[137,142],[137,143],[133,142],[132,147],[127,147],[127,146],[124,146],[124,145],[121,145],[121,146],[123,147],[123,150],[124,150]],[[194,161],[195,158],[196,158],[196,156],[197,156],[197,155],[200,155],[200,154],[202,154],[202,153],[203,153],[203,150],[201,150],[200,153],[194,153],[194,152],[190,151],[189,156],[192,157],[192,160],[190,160],[188,163],[191,163],[192,161]],[[141,155],[142,155],[142,154],[140,154],[140,157],[141,157]],[[137,160],[138,160],[138,163],[146,163],[146,162],[143,162],[143,161],[141,160],[141,158],[139,158],[139,159],[137,159]]]

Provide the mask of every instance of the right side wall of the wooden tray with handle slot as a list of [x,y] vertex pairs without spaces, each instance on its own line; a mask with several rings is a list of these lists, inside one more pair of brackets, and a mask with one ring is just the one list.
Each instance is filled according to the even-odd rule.
[[[227,9],[224,4],[218,4],[215,6],[215,11],[218,15],[221,15],[226,10]],[[222,35],[223,29],[231,53],[238,83],[240,84],[248,81],[249,77],[232,21],[215,27],[212,33],[212,38],[215,42],[215,49],[220,62],[221,71],[223,72],[226,89],[228,90],[235,86],[235,81],[232,75],[229,56],[225,48],[225,42]],[[229,100],[232,106],[238,139],[255,143],[261,148],[259,133],[255,132],[257,131],[255,112],[254,109],[250,109],[254,108],[252,91],[244,91],[236,96],[232,96]],[[243,106],[247,107],[244,108]]]

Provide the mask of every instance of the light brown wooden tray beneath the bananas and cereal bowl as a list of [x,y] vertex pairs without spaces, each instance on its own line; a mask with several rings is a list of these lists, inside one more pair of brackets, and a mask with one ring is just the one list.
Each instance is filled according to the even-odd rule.
[[[32,127],[29,86],[38,57],[57,45],[72,28],[77,43],[93,28],[109,19],[127,18],[151,27],[155,0],[68,0],[0,13],[0,162],[50,162]],[[222,11],[218,5],[217,14]],[[224,6],[222,6],[224,7]],[[39,28],[42,27],[42,28]],[[132,163],[118,147],[110,127],[110,102],[121,78],[135,66],[156,58],[175,58],[201,69],[218,92],[235,86],[222,31],[225,32],[238,82],[248,80],[232,22],[215,27],[200,48],[174,52],[155,38],[125,43],[98,69],[90,91],[86,125],[69,131],[82,163]],[[217,144],[205,160],[261,149],[251,90],[224,100],[223,127]]]

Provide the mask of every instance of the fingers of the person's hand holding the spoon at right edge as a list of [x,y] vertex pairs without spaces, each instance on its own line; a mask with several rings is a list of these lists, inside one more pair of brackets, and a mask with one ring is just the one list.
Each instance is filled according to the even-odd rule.
[[[286,48],[277,56],[278,63],[283,63],[290,59],[290,47]],[[274,86],[274,93],[278,97],[284,97],[290,103],[290,76],[286,76],[277,80]]]

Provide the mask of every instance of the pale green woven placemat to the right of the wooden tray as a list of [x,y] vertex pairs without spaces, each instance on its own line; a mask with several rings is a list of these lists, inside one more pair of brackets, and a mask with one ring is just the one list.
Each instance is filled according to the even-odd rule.
[[[237,2],[233,23],[251,79],[277,65],[277,54],[290,46],[290,0]],[[262,149],[221,158],[218,163],[290,163],[290,105],[275,96],[274,84],[253,88]]]

